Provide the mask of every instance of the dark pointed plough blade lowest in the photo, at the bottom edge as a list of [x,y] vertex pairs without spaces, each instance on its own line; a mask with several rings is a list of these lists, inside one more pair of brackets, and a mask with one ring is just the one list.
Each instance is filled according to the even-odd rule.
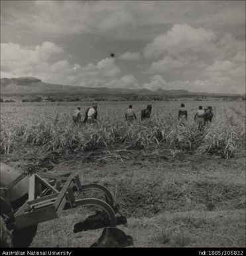
[[133,237],[117,227],[105,227],[101,237],[91,247],[127,247],[133,245]]

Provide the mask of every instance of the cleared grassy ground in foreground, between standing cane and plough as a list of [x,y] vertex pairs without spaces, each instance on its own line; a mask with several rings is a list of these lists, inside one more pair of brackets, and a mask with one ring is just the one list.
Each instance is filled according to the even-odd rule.
[[[133,236],[135,247],[245,246],[242,156],[223,160],[98,150],[73,158],[52,155],[38,160],[30,158],[30,151],[18,151],[2,161],[21,170],[34,164],[39,172],[73,172],[84,184],[106,186],[127,215],[128,225],[120,228]],[[29,157],[18,157],[23,154]],[[40,223],[32,247],[90,246],[101,229],[72,233],[73,225],[85,219],[87,213],[88,209],[83,208],[64,211],[60,219]]]

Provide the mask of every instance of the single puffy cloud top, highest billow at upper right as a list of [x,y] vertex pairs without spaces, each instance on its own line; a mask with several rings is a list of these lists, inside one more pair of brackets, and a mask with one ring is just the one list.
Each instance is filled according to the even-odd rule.
[[154,38],[144,49],[146,58],[158,57],[164,53],[177,55],[185,51],[210,50],[217,39],[214,31],[195,29],[188,24],[176,24],[167,31]]

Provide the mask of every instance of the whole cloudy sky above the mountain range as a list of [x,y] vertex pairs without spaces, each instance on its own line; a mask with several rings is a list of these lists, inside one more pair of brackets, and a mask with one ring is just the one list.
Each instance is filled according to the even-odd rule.
[[244,94],[245,1],[1,0],[1,78],[21,76]]

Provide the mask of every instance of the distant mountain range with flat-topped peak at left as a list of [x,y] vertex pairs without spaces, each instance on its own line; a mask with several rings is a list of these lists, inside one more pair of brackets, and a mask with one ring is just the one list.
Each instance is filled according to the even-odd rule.
[[82,86],[66,86],[60,84],[48,84],[35,77],[1,78],[2,96],[25,95],[76,95],[76,96],[240,96],[239,94],[210,94],[208,92],[190,92],[188,90],[148,90],[127,88],[89,88]]

